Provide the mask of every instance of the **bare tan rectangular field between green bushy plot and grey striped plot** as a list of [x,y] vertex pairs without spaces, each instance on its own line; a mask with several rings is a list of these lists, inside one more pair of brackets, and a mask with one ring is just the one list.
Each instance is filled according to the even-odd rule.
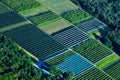
[[42,29],[44,32],[46,32],[48,34],[52,34],[54,32],[57,32],[59,30],[67,28],[69,26],[71,26],[71,24],[61,18],[61,19],[59,19],[57,21],[54,21],[52,23],[49,23],[49,24],[46,24],[46,25],[43,25],[43,26],[40,25],[39,28]]

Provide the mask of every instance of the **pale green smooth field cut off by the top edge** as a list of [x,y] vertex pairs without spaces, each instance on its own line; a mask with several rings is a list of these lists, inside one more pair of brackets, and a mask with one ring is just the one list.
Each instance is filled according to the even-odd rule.
[[77,9],[78,6],[73,4],[69,0],[37,0],[44,6],[47,6],[50,10],[57,14],[62,14],[70,10]]

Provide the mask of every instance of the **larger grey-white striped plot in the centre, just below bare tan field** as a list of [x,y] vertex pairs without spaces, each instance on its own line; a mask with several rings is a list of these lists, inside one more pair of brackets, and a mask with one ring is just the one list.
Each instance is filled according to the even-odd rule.
[[56,32],[52,36],[66,47],[75,46],[78,43],[90,39],[88,35],[73,26]]

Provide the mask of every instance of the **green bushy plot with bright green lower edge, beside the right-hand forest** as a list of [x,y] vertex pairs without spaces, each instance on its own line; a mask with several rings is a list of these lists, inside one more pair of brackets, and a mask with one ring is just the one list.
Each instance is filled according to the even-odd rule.
[[80,22],[87,21],[92,18],[92,16],[82,9],[75,9],[69,12],[63,13],[62,17],[70,21],[72,24],[76,25]]

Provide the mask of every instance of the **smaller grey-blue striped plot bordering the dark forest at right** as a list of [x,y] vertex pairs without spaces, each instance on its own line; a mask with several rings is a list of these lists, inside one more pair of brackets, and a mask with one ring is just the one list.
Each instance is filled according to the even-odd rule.
[[83,23],[79,23],[76,25],[76,27],[78,27],[79,29],[81,29],[84,32],[92,32],[92,31],[98,30],[100,28],[103,28],[105,26],[106,25],[103,22],[101,22],[100,20],[98,20],[96,18],[88,20]]

